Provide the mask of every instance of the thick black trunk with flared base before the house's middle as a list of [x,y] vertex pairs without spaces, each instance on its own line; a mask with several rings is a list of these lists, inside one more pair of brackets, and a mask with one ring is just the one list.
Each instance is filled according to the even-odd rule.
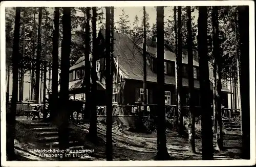
[[170,160],[166,148],[164,102],[164,9],[157,7],[157,155],[156,160]]

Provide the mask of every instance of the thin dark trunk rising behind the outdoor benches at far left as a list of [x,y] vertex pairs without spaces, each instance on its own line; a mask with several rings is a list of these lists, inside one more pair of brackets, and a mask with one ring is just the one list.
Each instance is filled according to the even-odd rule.
[[39,84],[40,84],[40,59],[41,59],[41,21],[42,7],[39,8],[38,29],[37,29],[37,53],[36,53],[36,79],[35,79],[35,100],[39,103]]

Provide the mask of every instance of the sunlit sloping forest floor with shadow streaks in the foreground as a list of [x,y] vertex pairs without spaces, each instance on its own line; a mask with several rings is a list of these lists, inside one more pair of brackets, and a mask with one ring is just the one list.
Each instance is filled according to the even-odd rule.
[[[16,129],[19,131],[17,140],[15,140],[16,153],[20,155],[19,160],[50,160],[38,157],[33,149],[38,145],[33,142],[32,132],[24,130],[17,124]],[[83,149],[94,149],[94,153],[90,159],[84,160],[105,160],[105,134],[106,126],[100,122],[97,124],[98,143],[93,144],[88,140],[86,134],[89,132],[89,124],[70,125],[71,133],[80,140],[83,140]],[[113,125],[113,160],[154,160],[157,153],[157,133],[153,131],[151,134],[131,132],[120,125]],[[225,151],[215,151],[214,159],[241,159],[240,153],[242,148],[242,136],[238,134],[224,134]],[[201,160],[201,139],[196,139],[197,153],[188,151],[188,139],[180,137],[174,130],[166,129],[166,145],[170,157],[173,160]],[[53,160],[53,159],[52,159]],[[71,159],[75,160],[75,159]]]

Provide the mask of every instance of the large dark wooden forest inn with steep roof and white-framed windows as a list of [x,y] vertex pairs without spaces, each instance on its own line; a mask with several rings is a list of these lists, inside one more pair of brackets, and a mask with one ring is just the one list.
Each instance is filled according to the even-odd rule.
[[[105,89],[105,31],[98,33],[98,49],[96,71],[97,97],[102,97]],[[113,76],[113,105],[135,104],[137,101],[143,101],[143,52],[142,39],[131,37],[121,33],[114,33],[114,76]],[[157,74],[156,74],[156,42],[147,40],[147,102],[156,104],[157,100]],[[182,104],[188,103],[188,74],[187,74],[187,56],[183,51],[183,79],[182,93],[184,94]],[[75,65],[70,67],[70,94],[78,98],[84,89],[81,88],[82,78],[84,76],[84,57],[81,57]],[[194,52],[194,85],[196,91],[195,105],[200,106],[200,84],[199,84],[199,63],[198,55]],[[211,68],[211,67],[210,67]],[[172,47],[165,46],[164,53],[165,70],[165,102],[166,104],[176,104],[175,96],[175,53]],[[212,76],[212,70],[210,70]],[[210,77],[211,79],[211,77]],[[212,83],[210,83],[212,89]],[[223,84],[222,88],[223,105],[227,107],[227,93],[229,89]],[[78,95],[79,94],[79,95]],[[212,97],[209,97],[212,99]],[[98,98],[97,98],[98,99]],[[101,99],[98,99],[101,101]],[[104,102],[100,102],[104,104]]]

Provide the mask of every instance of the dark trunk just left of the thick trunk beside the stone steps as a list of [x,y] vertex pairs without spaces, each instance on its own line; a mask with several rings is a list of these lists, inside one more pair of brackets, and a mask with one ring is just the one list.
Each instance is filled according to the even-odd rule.
[[55,7],[54,11],[54,30],[52,39],[52,96],[51,103],[51,119],[55,118],[58,104],[58,68],[59,68],[59,8]]

